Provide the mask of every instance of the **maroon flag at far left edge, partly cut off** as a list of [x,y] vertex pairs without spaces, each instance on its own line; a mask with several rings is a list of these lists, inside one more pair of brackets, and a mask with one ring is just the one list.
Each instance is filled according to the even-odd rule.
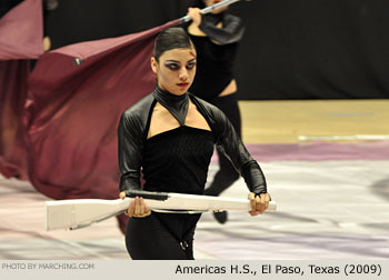
[[0,19],[0,173],[28,179],[23,123],[30,59],[43,53],[42,2],[24,0]]

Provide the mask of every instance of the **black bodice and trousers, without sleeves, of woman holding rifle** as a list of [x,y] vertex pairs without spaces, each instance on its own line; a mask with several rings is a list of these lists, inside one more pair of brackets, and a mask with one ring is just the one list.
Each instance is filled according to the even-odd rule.
[[[213,136],[211,131],[179,127],[157,134],[146,142],[143,178],[147,191],[166,191],[190,194],[202,194],[207,181],[210,159],[213,152]],[[146,218],[148,219],[148,218]],[[158,230],[159,234],[149,231],[142,218],[130,219],[128,224],[127,247],[132,258],[144,259],[193,259],[192,240],[194,227],[200,214],[188,213],[159,213],[152,212],[149,220]],[[152,242],[141,242],[137,248],[137,237],[150,232]],[[157,243],[171,240],[169,250],[153,250],[156,236],[163,237]],[[158,238],[158,237],[157,237]],[[149,239],[149,240],[150,240]],[[144,244],[149,247],[144,248]],[[182,250],[182,246],[188,249]],[[171,248],[174,248],[172,250]],[[177,251],[179,252],[177,254]],[[182,253],[183,251],[183,253]]]

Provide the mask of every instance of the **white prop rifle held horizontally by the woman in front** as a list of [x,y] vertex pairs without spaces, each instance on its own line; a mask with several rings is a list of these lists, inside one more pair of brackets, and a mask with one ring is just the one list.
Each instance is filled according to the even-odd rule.
[[[118,216],[128,209],[134,197],[142,197],[153,211],[176,210],[182,213],[240,210],[250,211],[248,199],[220,198],[173,192],[128,191],[127,198],[107,199],[69,199],[46,201],[44,228],[80,229],[92,223]],[[270,201],[268,210],[276,210],[277,204]]]

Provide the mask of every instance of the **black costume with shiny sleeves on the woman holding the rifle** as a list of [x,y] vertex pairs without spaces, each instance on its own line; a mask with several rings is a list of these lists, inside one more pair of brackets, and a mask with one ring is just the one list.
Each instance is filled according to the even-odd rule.
[[[211,131],[184,126],[189,99]],[[161,103],[180,127],[147,139],[151,114]],[[157,88],[123,112],[119,129],[120,191],[140,189],[140,169],[147,191],[201,194],[213,144],[229,156],[250,191],[267,192],[263,173],[236,134],[227,117],[190,93],[174,96]],[[192,240],[200,214],[154,212],[130,218],[126,244],[132,259],[193,259]]]

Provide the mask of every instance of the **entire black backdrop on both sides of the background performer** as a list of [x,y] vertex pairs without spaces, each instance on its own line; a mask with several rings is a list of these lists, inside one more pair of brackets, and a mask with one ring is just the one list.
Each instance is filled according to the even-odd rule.
[[[50,1],[52,49],[149,29],[194,2],[58,0],[50,10]],[[230,10],[247,27],[236,66],[240,99],[389,98],[388,0],[252,0]]]

